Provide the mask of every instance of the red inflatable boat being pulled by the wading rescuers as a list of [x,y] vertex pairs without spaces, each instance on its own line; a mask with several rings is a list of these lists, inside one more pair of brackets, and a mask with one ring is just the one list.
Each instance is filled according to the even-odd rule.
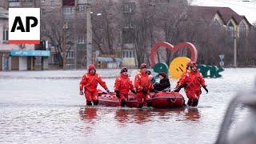
[[[154,108],[175,108],[185,106],[185,100],[181,94],[175,92],[159,92],[150,94],[151,106]],[[121,102],[115,93],[107,94],[98,90],[98,104],[102,106],[121,106]],[[126,102],[127,107],[138,107],[136,95],[130,93]],[[144,105],[146,106],[146,104]]]

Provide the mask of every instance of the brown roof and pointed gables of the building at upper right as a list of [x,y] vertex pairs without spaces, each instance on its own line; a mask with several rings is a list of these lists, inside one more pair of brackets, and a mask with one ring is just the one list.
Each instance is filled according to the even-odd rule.
[[191,14],[194,20],[226,27],[232,38],[248,35],[251,26],[244,15],[237,14],[229,7],[191,6]]

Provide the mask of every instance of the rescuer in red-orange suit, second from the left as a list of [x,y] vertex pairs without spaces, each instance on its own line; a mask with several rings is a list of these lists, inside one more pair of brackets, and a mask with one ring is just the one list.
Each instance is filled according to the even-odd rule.
[[126,106],[126,100],[128,98],[129,90],[136,94],[134,86],[130,81],[127,72],[128,69],[126,67],[122,67],[120,75],[118,76],[118,78],[115,79],[114,82],[114,92],[121,101],[122,107]]

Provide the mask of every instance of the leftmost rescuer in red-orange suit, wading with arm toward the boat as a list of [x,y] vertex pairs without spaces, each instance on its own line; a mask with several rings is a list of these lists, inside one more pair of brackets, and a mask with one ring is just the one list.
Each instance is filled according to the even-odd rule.
[[102,78],[96,73],[94,64],[90,64],[88,73],[83,75],[82,80],[80,82],[80,95],[83,95],[83,89],[84,89],[87,106],[91,106],[92,101],[94,102],[94,105],[98,105],[98,93],[97,93],[98,83],[108,93],[110,93],[110,90],[106,87],[106,82],[102,81]]

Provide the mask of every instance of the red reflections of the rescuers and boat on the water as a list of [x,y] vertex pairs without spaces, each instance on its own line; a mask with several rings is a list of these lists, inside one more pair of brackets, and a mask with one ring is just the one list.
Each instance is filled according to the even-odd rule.
[[[104,113],[102,113],[102,110]],[[99,110],[99,111],[98,111]],[[130,109],[116,107],[97,107],[85,106],[79,110],[79,115],[82,121],[87,124],[95,125],[95,122],[100,121],[100,115],[111,114],[114,112],[114,122],[120,126],[126,126],[128,123],[137,123],[140,125],[147,122],[170,122],[170,121],[199,121],[201,114],[197,107],[178,108],[178,109]],[[110,118],[110,119],[109,119]],[[113,117],[112,117],[113,118]],[[111,121],[111,116],[108,120]]]

